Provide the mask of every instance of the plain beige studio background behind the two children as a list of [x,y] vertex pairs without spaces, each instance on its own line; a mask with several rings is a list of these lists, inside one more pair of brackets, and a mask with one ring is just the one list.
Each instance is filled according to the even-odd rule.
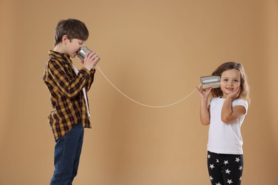
[[[180,100],[221,63],[242,63],[252,90],[242,184],[277,185],[277,14],[277,0],[1,0],[0,184],[51,179],[43,68],[57,21],[78,18],[101,70],[145,104]],[[86,129],[74,184],[210,184],[197,93],[172,107],[143,107],[98,71],[88,96],[93,129]]]

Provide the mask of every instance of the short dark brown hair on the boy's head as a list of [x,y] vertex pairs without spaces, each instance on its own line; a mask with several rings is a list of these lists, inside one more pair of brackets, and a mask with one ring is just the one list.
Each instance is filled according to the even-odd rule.
[[89,36],[88,28],[85,23],[77,19],[68,18],[67,20],[58,21],[55,29],[54,46],[62,41],[63,35],[68,36],[71,41],[73,38],[86,41]]

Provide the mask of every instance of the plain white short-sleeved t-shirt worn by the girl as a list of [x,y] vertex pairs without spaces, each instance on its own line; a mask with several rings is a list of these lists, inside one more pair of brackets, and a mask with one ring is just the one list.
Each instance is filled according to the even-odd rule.
[[217,154],[243,154],[242,134],[240,127],[248,110],[245,100],[232,100],[232,107],[242,105],[245,114],[231,123],[221,121],[221,111],[225,99],[213,97],[210,101],[210,129],[208,134],[207,150]]

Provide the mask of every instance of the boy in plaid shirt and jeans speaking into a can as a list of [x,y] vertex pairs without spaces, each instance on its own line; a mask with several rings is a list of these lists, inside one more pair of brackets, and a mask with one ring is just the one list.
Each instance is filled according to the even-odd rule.
[[86,53],[79,71],[70,59],[77,56],[88,36],[85,23],[61,20],[55,29],[54,49],[48,51],[43,82],[51,97],[53,110],[48,122],[56,140],[51,185],[72,184],[81,156],[83,128],[91,128],[86,92],[93,83],[93,65],[99,58],[94,52]]

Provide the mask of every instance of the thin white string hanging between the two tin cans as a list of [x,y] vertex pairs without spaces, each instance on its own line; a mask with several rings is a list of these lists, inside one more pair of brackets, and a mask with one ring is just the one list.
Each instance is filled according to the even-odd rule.
[[135,102],[135,103],[137,103],[137,104],[139,104],[139,105],[145,106],[145,107],[151,107],[151,108],[170,107],[170,106],[172,106],[172,105],[176,105],[176,104],[179,103],[179,102],[182,102],[182,101],[185,100],[187,97],[190,97],[190,95],[192,95],[192,94],[195,92],[195,90],[196,90],[196,89],[193,90],[189,95],[183,97],[181,100],[178,100],[177,102],[173,102],[173,103],[168,104],[168,105],[146,105],[146,104],[143,104],[143,103],[138,102],[138,101],[136,101],[136,100],[133,100],[133,99],[132,99],[131,97],[129,97],[128,95],[125,95],[125,93],[123,93],[122,91],[120,91],[115,85],[113,85],[113,83],[110,82],[110,80],[104,75],[103,71],[98,67],[98,65],[96,65],[96,67],[98,68],[98,70],[101,71],[101,74],[102,74],[102,75],[104,76],[104,78],[108,81],[108,83],[110,83],[110,85],[112,85],[116,90],[118,90],[118,92],[119,92],[120,94],[122,94],[123,96],[125,96],[126,98],[128,98],[128,100],[131,100],[131,101],[133,101],[133,102]]

